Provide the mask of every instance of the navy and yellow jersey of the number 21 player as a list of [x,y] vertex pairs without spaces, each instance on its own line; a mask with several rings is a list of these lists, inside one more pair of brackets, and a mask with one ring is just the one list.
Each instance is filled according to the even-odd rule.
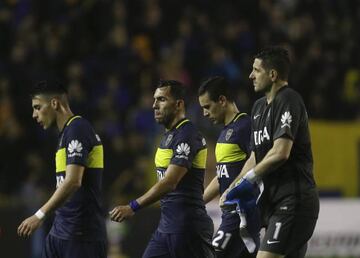
[[[216,173],[220,194],[240,174],[250,154],[251,119],[245,113],[237,114],[221,131],[215,147]],[[233,230],[239,227],[237,214],[224,213],[221,228]]]

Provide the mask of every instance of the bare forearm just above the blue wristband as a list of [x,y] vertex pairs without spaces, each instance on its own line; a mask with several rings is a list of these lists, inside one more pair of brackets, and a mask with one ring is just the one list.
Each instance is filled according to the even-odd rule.
[[156,183],[144,195],[137,198],[136,201],[141,207],[145,207],[159,201],[164,195],[173,191],[175,188],[175,184],[167,182],[164,179]]

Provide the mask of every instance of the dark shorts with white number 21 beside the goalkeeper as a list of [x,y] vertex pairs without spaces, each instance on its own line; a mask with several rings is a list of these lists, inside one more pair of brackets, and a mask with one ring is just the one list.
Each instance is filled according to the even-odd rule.
[[239,226],[233,229],[226,225],[226,221],[223,220],[212,241],[216,256],[218,258],[256,257],[260,245],[258,211],[255,210],[247,216],[247,227],[241,229],[241,232]]

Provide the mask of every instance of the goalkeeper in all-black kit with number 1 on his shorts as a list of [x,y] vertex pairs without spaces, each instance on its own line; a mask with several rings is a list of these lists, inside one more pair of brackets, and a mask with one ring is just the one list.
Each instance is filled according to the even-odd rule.
[[250,158],[222,197],[242,198],[262,180],[259,205],[266,230],[261,258],[304,257],[319,212],[308,115],[301,96],[288,86],[289,67],[288,52],[281,47],[255,56],[249,78],[265,97],[251,112]]

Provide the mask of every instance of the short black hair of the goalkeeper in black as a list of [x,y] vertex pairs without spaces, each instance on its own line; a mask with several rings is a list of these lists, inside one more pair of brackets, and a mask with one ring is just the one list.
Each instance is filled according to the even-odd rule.
[[262,60],[262,65],[266,70],[275,69],[279,78],[287,80],[290,72],[289,52],[280,46],[271,46],[263,49],[255,58]]

